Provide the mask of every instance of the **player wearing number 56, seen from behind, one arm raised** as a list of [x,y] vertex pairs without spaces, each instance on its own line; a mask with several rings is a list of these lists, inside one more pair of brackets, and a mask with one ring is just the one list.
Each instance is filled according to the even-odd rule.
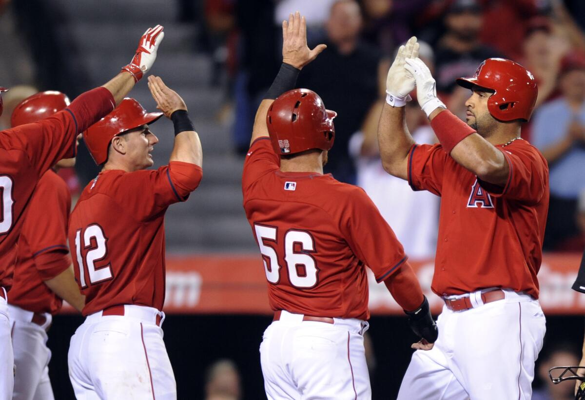
[[274,310],[260,345],[264,388],[271,400],[370,399],[366,265],[415,333],[432,343],[436,326],[376,206],[363,189],[323,175],[336,113],[315,92],[291,89],[325,46],[309,50],[298,12],[283,22],[283,39],[283,64],[256,113],[242,177]]

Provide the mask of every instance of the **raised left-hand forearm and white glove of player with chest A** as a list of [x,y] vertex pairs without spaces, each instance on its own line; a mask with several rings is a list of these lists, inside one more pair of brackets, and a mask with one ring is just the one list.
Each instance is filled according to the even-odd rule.
[[406,180],[408,151],[414,140],[406,127],[404,106],[411,98],[415,81],[404,69],[407,57],[418,57],[416,37],[411,37],[404,46],[400,46],[396,58],[388,70],[386,78],[386,104],[378,122],[378,144],[384,170],[388,174]]

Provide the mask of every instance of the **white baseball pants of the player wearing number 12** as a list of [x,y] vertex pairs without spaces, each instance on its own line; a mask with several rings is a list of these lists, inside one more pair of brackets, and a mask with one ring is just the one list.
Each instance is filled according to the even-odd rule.
[[[88,315],[71,337],[69,377],[78,400],[177,399],[177,384],[155,308]],[[160,323],[162,325],[162,321]]]

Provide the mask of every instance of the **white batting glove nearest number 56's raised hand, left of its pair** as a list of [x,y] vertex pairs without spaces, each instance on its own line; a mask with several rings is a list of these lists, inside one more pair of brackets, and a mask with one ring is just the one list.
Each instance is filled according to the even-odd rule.
[[414,89],[415,80],[413,75],[404,68],[407,57],[418,57],[418,43],[414,36],[408,39],[405,45],[400,46],[394,63],[388,70],[386,102],[393,107],[402,107],[412,99],[409,93]]

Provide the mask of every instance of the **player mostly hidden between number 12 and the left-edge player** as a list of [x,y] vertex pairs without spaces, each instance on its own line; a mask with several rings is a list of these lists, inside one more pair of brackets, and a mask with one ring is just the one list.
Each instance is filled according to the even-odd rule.
[[[70,104],[61,92],[42,92],[20,102],[12,113],[12,126],[33,123],[65,109]],[[71,168],[75,158],[60,160],[37,182],[30,198],[25,222],[18,240],[14,281],[8,298],[12,323],[15,380],[13,399],[50,400],[51,351],[47,331],[63,301],[78,311],[84,304],[67,248],[67,223],[71,194],[66,182],[56,174]]]

